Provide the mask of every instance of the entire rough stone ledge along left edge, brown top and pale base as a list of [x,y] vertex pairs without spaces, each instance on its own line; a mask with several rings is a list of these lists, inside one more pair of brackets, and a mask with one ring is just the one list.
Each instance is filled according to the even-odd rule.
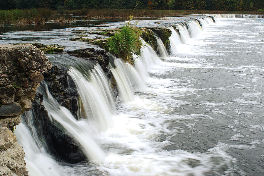
[[0,175],[27,175],[25,153],[12,133],[31,109],[43,73],[52,63],[37,47],[0,45]]

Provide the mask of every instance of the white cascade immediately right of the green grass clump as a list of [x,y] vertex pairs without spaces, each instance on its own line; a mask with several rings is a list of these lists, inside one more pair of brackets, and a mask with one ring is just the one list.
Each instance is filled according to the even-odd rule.
[[134,67],[143,80],[147,80],[150,71],[155,65],[160,65],[161,60],[153,50],[153,48],[147,44],[142,38],[143,47],[141,48],[141,55],[136,59]]

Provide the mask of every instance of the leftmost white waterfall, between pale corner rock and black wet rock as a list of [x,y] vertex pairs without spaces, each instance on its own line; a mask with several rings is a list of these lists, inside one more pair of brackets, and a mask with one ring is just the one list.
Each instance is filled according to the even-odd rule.
[[33,114],[32,110],[25,112],[26,120],[32,131],[24,124],[23,118],[19,125],[16,125],[15,134],[18,140],[18,143],[23,146],[25,151],[25,161],[26,167],[29,170],[28,175],[34,176],[46,176],[46,175],[58,175],[65,176],[68,175],[63,167],[50,156],[43,143],[38,138],[36,134],[36,129],[33,126]]

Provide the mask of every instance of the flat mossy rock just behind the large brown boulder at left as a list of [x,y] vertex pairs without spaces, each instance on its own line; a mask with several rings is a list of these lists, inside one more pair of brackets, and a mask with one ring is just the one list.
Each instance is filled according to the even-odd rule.
[[33,46],[36,46],[38,49],[43,51],[45,54],[55,54],[60,53],[65,49],[65,46],[52,44],[52,45],[44,45],[41,43],[17,43],[17,44],[32,44]]

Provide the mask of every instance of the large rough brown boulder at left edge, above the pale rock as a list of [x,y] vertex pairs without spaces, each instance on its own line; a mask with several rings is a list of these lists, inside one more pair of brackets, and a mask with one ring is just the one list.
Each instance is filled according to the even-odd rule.
[[31,44],[0,45],[0,124],[12,130],[18,115],[31,109],[43,73],[52,64]]

